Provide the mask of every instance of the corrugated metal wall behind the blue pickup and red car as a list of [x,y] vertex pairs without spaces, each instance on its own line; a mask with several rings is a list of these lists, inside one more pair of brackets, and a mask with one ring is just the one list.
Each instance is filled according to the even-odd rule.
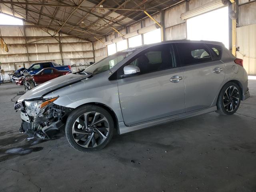
[[92,42],[82,38],[65,34],[58,34],[53,38],[50,35],[54,34],[52,30],[47,33],[41,28],[23,26],[0,26],[0,33],[9,49],[9,52],[0,49],[0,66],[4,80],[10,79],[8,74],[17,69],[17,63],[28,68],[31,64],[45,61],[62,64],[63,59],[64,65],[75,65],[72,70],[77,71],[94,61]]

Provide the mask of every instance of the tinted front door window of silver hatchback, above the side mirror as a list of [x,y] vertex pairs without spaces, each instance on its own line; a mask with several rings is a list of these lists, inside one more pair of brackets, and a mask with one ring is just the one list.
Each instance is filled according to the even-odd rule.
[[129,65],[138,66],[141,74],[175,67],[172,46],[164,44],[148,48],[138,54]]

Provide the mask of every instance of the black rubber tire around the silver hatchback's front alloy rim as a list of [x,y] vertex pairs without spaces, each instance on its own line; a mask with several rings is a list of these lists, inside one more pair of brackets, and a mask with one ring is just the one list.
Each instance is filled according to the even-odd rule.
[[[86,148],[86,147],[82,147],[80,146],[80,144],[78,144],[75,139],[74,139],[74,135],[77,136],[77,134],[73,134],[73,125],[75,123],[77,123],[77,119],[80,118],[80,116],[82,116],[85,113],[88,112],[97,112],[100,113],[100,115],[102,114],[108,121],[108,134],[105,138],[105,140],[99,144],[96,147],[92,147],[92,148]],[[96,116],[96,114],[95,114]],[[78,123],[79,124],[79,123]],[[101,123],[100,123],[101,124]],[[87,129],[87,128],[86,128]],[[96,128],[95,128],[96,129]],[[84,129],[83,129],[84,130]],[[88,130],[88,129],[87,129]],[[96,132],[96,130],[94,130],[94,132]],[[76,150],[78,151],[82,151],[82,152],[92,152],[92,151],[96,151],[96,150],[101,150],[102,148],[104,148],[111,140],[113,134],[114,134],[114,121],[111,117],[111,115],[109,114],[108,111],[106,111],[104,108],[99,107],[99,106],[94,106],[94,105],[85,105],[85,106],[81,106],[79,108],[76,108],[75,110],[73,110],[70,115],[67,118],[66,121],[66,126],[65,126],[65,133],[66,133],[66,138],[69,142],[69,144]],[[97,132],[95,133],[96,136]],[[80,134],[78,134],[79,136]],[[82,135],[82,134],[81,134]],[[88,140],[89,135],[85,135],[86,141]],[[95,136],[94,136],[94,140],[95,140]],[[100,138],[100,136],[98,137]],[[103,140],[103,139],[102,139]],[[85,141],[85,142],[86,142]]]

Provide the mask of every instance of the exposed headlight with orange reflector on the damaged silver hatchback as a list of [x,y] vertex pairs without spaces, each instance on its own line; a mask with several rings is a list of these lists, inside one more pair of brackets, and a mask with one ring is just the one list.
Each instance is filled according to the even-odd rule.
[[42,115],[46,106],[54,102],[56,99],[58,99],[58,97],[46,98],[46,99],[34,100],[34,101],[25,101],[26,111],[29,116]]

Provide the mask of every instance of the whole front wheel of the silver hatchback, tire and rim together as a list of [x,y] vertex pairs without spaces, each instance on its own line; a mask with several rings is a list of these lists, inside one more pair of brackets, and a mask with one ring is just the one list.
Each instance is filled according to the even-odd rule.
[[86,105],[73,110],[65,127],[69,144],[82,152],[104,148],[114,133],[111,115],[99,106]]

